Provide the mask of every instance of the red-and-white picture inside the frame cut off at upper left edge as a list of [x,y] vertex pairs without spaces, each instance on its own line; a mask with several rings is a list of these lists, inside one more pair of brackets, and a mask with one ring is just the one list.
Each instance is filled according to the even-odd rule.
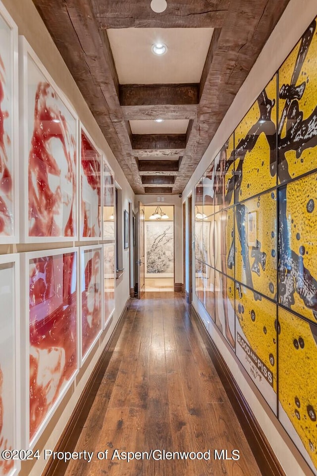
[[14,234],[14,78],[13,29],[0,11],[0,238]]

